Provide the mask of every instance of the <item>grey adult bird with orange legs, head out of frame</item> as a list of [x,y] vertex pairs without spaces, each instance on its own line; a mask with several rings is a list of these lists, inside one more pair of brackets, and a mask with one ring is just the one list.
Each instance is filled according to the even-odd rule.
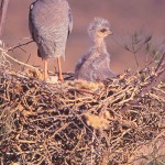
[[30,7],[29,26],[44,61],[44,79],[48,77],[47,61],[57,58],[58,79],[63,80],[61,56],[65,58],[66,41],[73,29],[72,11],[66,0],[36,0]]

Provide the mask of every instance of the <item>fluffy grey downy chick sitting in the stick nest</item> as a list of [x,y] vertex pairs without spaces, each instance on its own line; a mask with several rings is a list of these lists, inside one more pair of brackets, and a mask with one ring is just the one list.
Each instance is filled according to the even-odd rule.
[[103,80],[114,77],[110,69],[110,54],[107,52],[105,37],[112,34],[110,24],[102,18],[96,18],[88,28],[92,46],[76,65],[75,78],[88,81]]

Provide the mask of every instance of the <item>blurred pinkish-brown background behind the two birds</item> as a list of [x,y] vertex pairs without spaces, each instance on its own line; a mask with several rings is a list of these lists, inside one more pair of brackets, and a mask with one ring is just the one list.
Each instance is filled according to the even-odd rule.
[[[24,37],[30,36],[28,16],[31,2],[32,0],[10,0],[2,36],[7,47],[25,42]],[[111,23],[113,36],[107,37],[107,47],[111,54],[111,68],[116,73],[122,73],[127,68],[135,69],[136,66],[132,54],[125,52],[114,40],[125,40],[125,36],[136,31],[152,34],[156,44],[165,38],[165,0],[68,0],[68,2],[73,10],[74,30],[67,43],[64,72],[74,70],[78,58],[88,51],[90,40],[87,26],[95,16],[102,16]],[[35,44],[23,48],[26,53],[15,50],[12,55],[25,62],[31,54],[29,64],[43,67],[42,59],[36,55]],[[144,55],[139,55],[141,65],[144,58]],[[54,64],[50,63],[51,70],[54,69]]]

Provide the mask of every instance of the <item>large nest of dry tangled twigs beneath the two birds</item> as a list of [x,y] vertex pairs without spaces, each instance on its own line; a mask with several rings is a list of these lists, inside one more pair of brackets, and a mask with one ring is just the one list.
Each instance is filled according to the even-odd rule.
[[139,74],[57,85],[0,57],[1,164],[165,164],[164,55]]

